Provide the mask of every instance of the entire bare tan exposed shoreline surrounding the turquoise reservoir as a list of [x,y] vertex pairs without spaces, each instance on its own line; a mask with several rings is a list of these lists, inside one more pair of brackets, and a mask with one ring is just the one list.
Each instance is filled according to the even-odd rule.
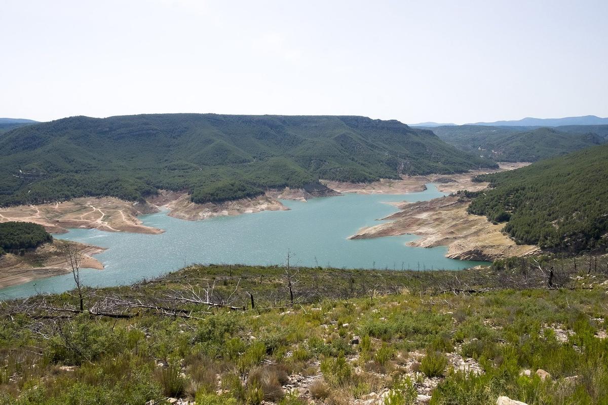
[[[27,221],[43,225],[50,233],[66,233],[67,228],[88,228],[108,232],[134,232],[160,234],[164,230],[145,226],[138,216],[152,214],[166,208],[168,216],[182,220],[202,220],[216,216],[234,216],[261,211],[288,210],[280,200],[306,201],[315,197],[339,196],[342,193],[359,194],[407,194],[426,189],[426,183],[435,183],[442,192],[462,189],[478,191],[487,183],[474,183],[477,174],[519,168],[529,163],[501,163],[500,169],[469,171],[450,175],[404,176],[400,180],[383,179],[373,183],[344,183],[322,180],[324,187],[311,190],[269,190],[263,196],[233,200],[223,203],[198,204],[190,201],[187,192],[161,190],[158,196],[145,203],[133,203],[115,197],[86,197],[67,202],[43,205],[22,205],[0,208],[0,222]],[[522,256],[538,251],[537,247],[516,245],[500,232],[502,225],[492,225],[485,217],[466,213],[469,202],[454,201],[455,197],[443,197],[419,203],[393,203],[401,211],[385,218],[392,222],[362,228],[350,239],[416,234],[422,236],[407,245],[413,247],[448,247],[446,257],[463,260],[492,260],[505,256]],[[489,242],[491,241],[491,242]],[[52,248],[49,248],[52,250]],[[83,268],[103,269],[103,264],[91,257],[104,249],[88,246],[83,253]],[[28,256],[30,255],[30,256]],[[44,259],[32,260],[33,256]],[[69,272],[57,254],[38,248],[26,254],[28,260],[15,255],[0,259],[0,288],[23,284],[34,279],[56,276]],[[32,265],[36,262],[36,265]],[[30,263],[30,264],[28,264]]]

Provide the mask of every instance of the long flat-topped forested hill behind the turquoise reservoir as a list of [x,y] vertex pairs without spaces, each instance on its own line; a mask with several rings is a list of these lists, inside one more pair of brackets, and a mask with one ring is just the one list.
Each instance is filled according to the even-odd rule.
[[71,117],[0,137],[0,205],[157,189],[195,202],[368,182],[400,174],[491,168],[431,131],[365,117],[157,114]]

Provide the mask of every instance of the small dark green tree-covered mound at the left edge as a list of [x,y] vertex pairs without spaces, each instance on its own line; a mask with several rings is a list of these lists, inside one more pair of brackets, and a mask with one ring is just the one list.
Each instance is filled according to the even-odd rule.
[[0,222],[0,255],[24,252],[52,242],[44,226],[32,222]]

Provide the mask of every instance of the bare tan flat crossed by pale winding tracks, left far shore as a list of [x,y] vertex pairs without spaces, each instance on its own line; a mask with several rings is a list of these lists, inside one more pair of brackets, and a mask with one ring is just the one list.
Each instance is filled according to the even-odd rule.
[[88,228],[109,232],[159,234],[164,231],[142,225],[138,215],[157,212],[148,203],[133,203],[114,197],[87,197],[41,205],[0,208],[0,222],[26,221],[43,225],[51,233],[67,228]]

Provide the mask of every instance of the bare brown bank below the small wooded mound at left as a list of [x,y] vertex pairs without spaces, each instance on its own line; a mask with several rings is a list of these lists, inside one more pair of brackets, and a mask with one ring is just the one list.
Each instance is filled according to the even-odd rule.
[[[102,253],[105,249],[77,242],[68,243],[82,247],[81,268],[103,270],[103,264],[99,260],[94,259],[92,255]],[[46,243],[36,248],[36,250],[27,251],[24,256],[10,253],[1,256],[0,288],[70,272],[71,268],[61,252],[57,250],[57,241]]]

